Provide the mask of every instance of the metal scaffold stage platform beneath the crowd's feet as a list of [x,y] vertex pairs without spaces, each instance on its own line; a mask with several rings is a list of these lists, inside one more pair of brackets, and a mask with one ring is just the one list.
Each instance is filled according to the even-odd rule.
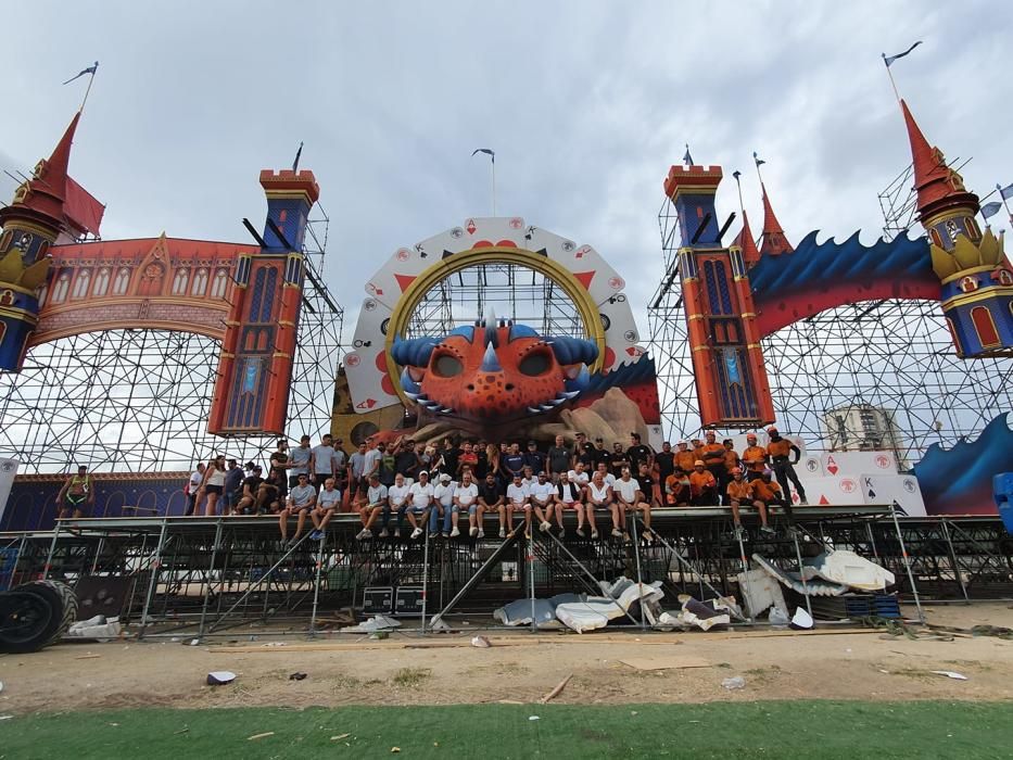
[[566,537],[535,531],[531,541],[520,530],[499,540],[494,516],[485,517],[482,540],[468,537],[463,518],[457,539],[410,540],[405,528],[401,539],[357,541],[358,516],[341,514],[322,542],[304,536],[291,550],[280,546],[274,517],[80,519],[53,531],[0,533],[0,590],[54,578],[75,586],[83,616],[121,615],[141,636],[198,637],[278,617],[294,618],[311,633],[327,625],[333,610],[360,610],[367,590],[394,596],[402,590],[415,600],[405,617],[420,619],[425,629],[438,613],[491,620],[496,607],[532,593],[597,594],[598,581],[623,574],[661,581],[671,607],[679,593],[738,595],[735,577],[755,566],[754,553],[790,570],[800,558],[834,547],[886,567],[902,596],[915,590],[938,599],[1013,595],[1013,536],[998,517],[903,517],[889,505],[794,512],[800,535],[775,514],[776,533],[765,536],[754,510],[744,508],[748,537],[739,542],[727,508],[657,509],[650,544],[640,521],[628,520],[624,539],[609,536],[604,514],[598,540],[579,539],[575,516],[567,514]]

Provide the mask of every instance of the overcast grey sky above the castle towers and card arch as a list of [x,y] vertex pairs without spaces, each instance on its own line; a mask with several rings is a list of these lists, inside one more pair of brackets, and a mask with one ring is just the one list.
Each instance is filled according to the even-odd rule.
[[724,167],[722,218],[742,169],[759,233],[756,150],[790,240],[861,228],[871,242],[876,194],[910,161],[879,54],[917,39],[892,71],[928,139],[974,157],[979,194],[1013,181],[1013,3],[35,0],[5,5],[3,25],[18,42],[0,80],[2,168],[50,153],[85,89],[60,83],[101,63],[71,172],[107,205],[105,239],[250,242],[257,173],[304,140],[346,340],[396,248],[489,214],[479,147],[496,151],[501,215],[597,248],[642,328],[661,181],[686,142]]

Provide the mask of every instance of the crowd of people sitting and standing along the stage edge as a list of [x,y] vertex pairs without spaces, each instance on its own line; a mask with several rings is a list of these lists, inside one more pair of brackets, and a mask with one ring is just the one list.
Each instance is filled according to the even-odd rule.
[[[598,516],[611,519],[611,535],[625,535],[625,517],[640,514],[643,537],[654,540],[650,510],[660,506],[714,506],[732,509],[739,536],[739,507],[757,508],[761,530],[772,532],[768,509],[782,506],[790,519],[789,481],[800,503],[806,492],[793,465],[801,452],[775,428],[768,429],[770,443],[757,444],[747,436],[742,455],[731,440],[717,442],[709,432],[705,441],[680,441],[675,451],[666,442],[653,451],[631,433],[629,446],[616,442],[612,449],[599,438],[588,441],[574,434],[572,446],[557,435],[546,452],[535,441],[489,443],[482,440],[443,440],[440,446],[403,438],[392,443],[383,440],[364,442],[351,455],[342,441],[324,435],[311,446],[303,435],[297,447],[289,451],[279,439],[270,455],[267,477],[255,463],[240,468],[235,459],[218,456],[201,465],[189,483],[187,514],[271,515],[277,516],[281,541],[297,542],[307,519],[313,539],[321,539],[332,516],[341,510],[356,511],[363,528],[357,537],[400,536],[407,521],[411,537],[418,539],[428,528],[430,534],[446,537],[460,535],[458,520],[468,519],[472,537],[483,537],[484,517],[498,517],[499,536],[506,537],[520,525],[524,534],[532,527],[566,535],[562,516],[577,515],[579,536],[598,536]],[[795,455],[794,460],[790,455]],[[773,470],[771,470],[773,468]],[[777,481],[773,479],[776,472]],[[295,533],[289,540],[289,520],[296,519]],[[391,521],[394,525],[391,525]]]

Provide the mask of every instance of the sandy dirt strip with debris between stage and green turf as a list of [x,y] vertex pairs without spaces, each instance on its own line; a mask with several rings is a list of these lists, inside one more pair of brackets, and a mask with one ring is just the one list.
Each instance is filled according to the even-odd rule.
[[[932,623],[970,629],[1013,628],[1010,603],[928,606]],[[913,610],[906,610],[913,615]],[[464,629],[467,631],[467,629]],[[0,713],[80,708],[167,706],[337,706],[536,701],[568,674],[560,704],[706,702],[756,699],[972,699],[1013,698],[1013,642],[958,636],[912,641],[882,631],[771,635],[770,631],[640,634],[542,634],[539,643],[476,648],[405,648],[420,639],[394,634],[318,638],[313,646],[369,646],[301,650],[303,638],[249,632],[199,646],[182,642],[75,643],[33,655],[0,656]],[[503,632],[484,632],[492,637]],[[472,632],[464,633],[465,642]],[[527,637],[527,641],[524,641]],[[270,642],[283,646],[264,646]],[[427,641],[448,642],[449,637]],[[254,653],[228,647],[263,647]],[[708,667],[637,670],[626,658],[700,658]],[[213,670],[238,674],[232,684],[207,686]],[[929,673],[951,670],[957,681]],[[289,675],[307,673],[302,681]],[[746,686],[729,691],[723,679]]]

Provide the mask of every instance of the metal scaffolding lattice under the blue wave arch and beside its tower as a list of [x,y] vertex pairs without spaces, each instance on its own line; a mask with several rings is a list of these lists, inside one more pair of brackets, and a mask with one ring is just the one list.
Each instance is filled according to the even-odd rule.
[[[897,218],[887,226],[901,224]],[[679,221],[668,201],[658,221],[664,273],[647,309],[651,351],[666,434],[688,436],[700,419],[678,271]],[[833,448],[826,416],[841,407],[889,416],[901,466],[917,463],[934,443],[976,438],[1013,409],[1013,359],[958,358],[935,302],[848,304],[789,325],[762,346],[778,425],[815,451]]]

